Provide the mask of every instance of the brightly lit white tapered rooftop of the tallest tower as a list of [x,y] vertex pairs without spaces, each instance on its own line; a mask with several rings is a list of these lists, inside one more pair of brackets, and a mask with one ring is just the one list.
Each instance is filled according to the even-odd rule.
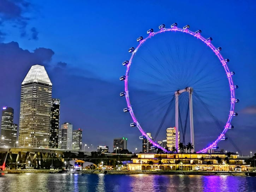
[[33,65],[30,68],[28,74],[22,82],[22,85],[32,82],[40,82],[52,85],[52,82],[50,81],[44,66],[41,65]]

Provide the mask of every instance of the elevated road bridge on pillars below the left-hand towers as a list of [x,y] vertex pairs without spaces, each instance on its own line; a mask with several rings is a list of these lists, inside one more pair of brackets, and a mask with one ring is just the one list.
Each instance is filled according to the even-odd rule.
[[61,157],[65,152],[71,152],[73,154],[79,154],[79,152],[82,152],[84,153],[84,155],[91,155],[91,153],[88,151],[54,148],[0,148],[0,153],[5,154],[0,164],[0,170],[5,170],[5,163],[8,155],[10,155],[10,159],[12,162],[26,163],[28,159],[31,159],[31,161],[34,161],[36,159],[46,160],[50,154],[55,154],[57,157]]

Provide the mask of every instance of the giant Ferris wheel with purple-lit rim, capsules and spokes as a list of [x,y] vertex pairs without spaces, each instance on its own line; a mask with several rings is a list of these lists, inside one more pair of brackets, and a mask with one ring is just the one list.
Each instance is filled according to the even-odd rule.
[[[123,62],[126,73],[120,77],[125,84],[120,96],[125,97],[127,103],[123,111],[131,115],[130,126],[137,127],[142,134],[140,138],[147,139],[153,148],[165,152],[168,149],[156,140],[162,127],[175,125],[179,133],[178,127],[182,124],[186,127],[189,116],[190,142],[194,146],[198,143],[201,147],[197,152],[207,152],[217,149],[221,140],[227,140],[226,132],[234,128],[231,120],[238,115],[234,112],[235,103],[239,102],[235,98],[238,85],[233,84],[232,76],[235,73],[228,68],[230,60],[222,57],[221,47],[214,47],[212,37],[204,38],[201,30],[193,32],[189,29],[189,25],[178,28],[177,23],[170,28],[162,24],[156,32],[149,29],[148,36],[138,37],[137,47],[129,49],[131,57]],[[187,95],[183,96],[184,92]],[[194,98],[192,101],[192,95],[196,101]],[[185,122],[181,121],[180,101],[186,103],[183,106],[187,109],[186,112],[184,110]],[[175,114],[170,114],[172,112]],[[193,116],[197,116],[197,121],[193,121]],[[198,142],[197,139],[194,142],[194,127],[198,129]],[[147,134],[150,130],[155,132],[154,138]],[[175,140],[178,149],[177,132]],[[165,137],[165,133],[162,137]],[[182,137],[184,141],[186,129],[182,130]]]

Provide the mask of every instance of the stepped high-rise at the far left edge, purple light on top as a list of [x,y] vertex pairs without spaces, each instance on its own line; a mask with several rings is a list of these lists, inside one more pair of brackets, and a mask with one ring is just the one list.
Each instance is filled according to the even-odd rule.
[[2,108],[0,146],[14,147],[17,144],[17,124],[13,124],[13,108]]

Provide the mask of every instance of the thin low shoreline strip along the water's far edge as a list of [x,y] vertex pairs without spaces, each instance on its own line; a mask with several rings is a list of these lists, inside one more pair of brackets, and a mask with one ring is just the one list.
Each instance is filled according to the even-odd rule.
[[141,170],[77,170],[70,173],[65,170],[49,170],[49,169],[28,169],[28,170],[7,170],[7,174],[25,174],[25,173],[66,173],[66,174],[151,174],[151,175],[232,175],[232,176],[256,176],[256,172],[207,172],[207,171],[141,171]]

